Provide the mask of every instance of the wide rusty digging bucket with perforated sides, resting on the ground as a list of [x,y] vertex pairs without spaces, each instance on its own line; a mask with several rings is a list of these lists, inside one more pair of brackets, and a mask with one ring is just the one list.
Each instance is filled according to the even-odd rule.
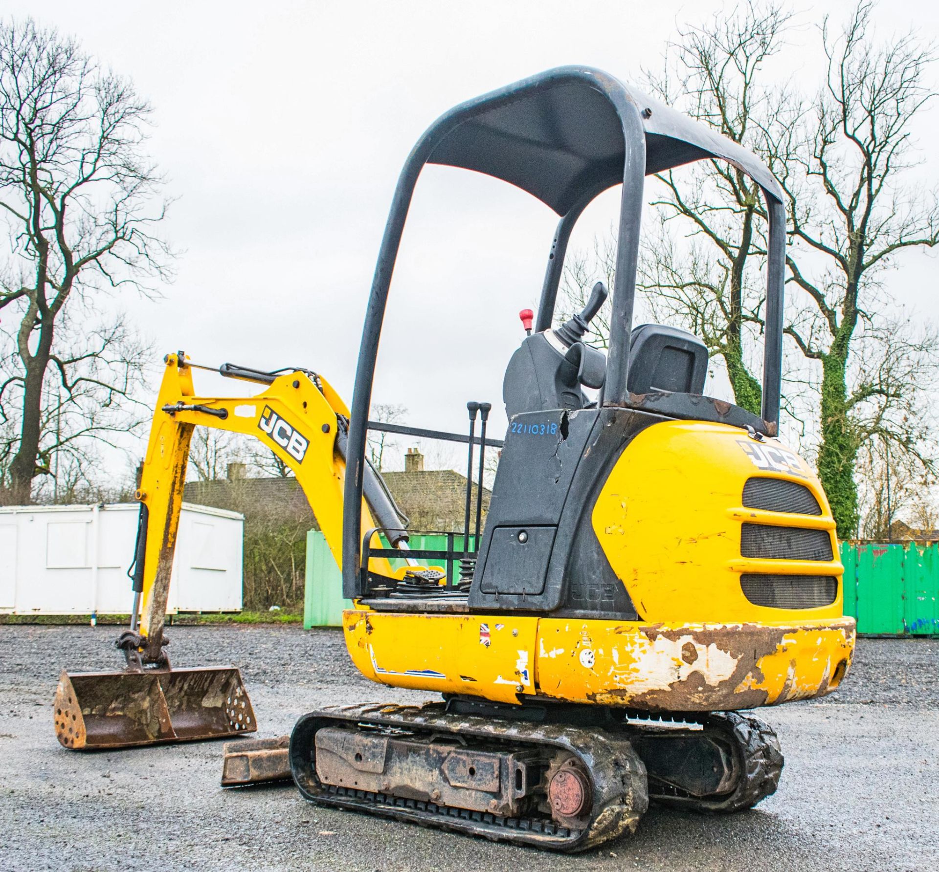
[[233,666],[62,672],[55,735],[72,751],[223,739],[257,729]]

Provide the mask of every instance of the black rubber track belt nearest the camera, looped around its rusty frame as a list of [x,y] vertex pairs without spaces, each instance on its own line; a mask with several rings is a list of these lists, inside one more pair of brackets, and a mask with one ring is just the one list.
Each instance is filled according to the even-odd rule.
[[[568,751],[591,773],[593,818],[585,830],[568,830],[550,818],[498,818],[464,809],[402,800],[387,794],[323,786],[316,778],[313,742],[327,725],[405,727],[458,734],[516,748],[540,745]],[[494,841],[542,849],[579,851],[625,832],[635,832],[649,805],[645,766],[626,736],[558,724],[493,721],[447,714],[440,703],[424,706],[346,706],[303,715],[290,738],[290,767],[303,797],[311,802],[481,835]]]

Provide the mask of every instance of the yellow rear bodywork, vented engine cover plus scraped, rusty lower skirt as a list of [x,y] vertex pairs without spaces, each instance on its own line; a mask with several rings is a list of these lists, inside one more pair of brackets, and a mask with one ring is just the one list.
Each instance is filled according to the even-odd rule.
[[[784,482],[769,487],[802,511],[755,508],[766,485],[747,498],[750,480]],[[773,705],[844,677],[854,619],[842,617],[835,522],[814,472],[777,440],[656,423],[622,452],[592,522],[639,620],[360,607],[344,621],[353,661],[398,687],[651,711]]]

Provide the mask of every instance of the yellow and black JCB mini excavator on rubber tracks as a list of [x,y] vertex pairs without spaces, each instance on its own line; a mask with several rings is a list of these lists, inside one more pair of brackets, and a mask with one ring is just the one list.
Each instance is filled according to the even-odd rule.
[[[644,176],[700,160],[729,161],[763,192],[759,416],[703,395],[707,350],[695,336],[632,323]],[[561,218],[533,329],[506,370],[510,424],[478,546],[412,552],[393,570],[408,531],[365,447],[393,266],[425,163],[508,181]],[[583,342],[602,286],[583,313],[553,325],[571,231],[614,185],[604,357]],[[777,439],[784,268],[782,192],[765,166],[604,72],[553,69],[457,106],[400,176],[351,412],[303,371],[230,368],[265,375],[269,389],[248,401],[196,398],[186,361],[168,359],[140,495],[148,632],[130,636],[129,657],[143,675],[161,662],[154,604],[192,426],[256,432],[297,471],[340,560],[355,665],[442,697],[301,717],[289,763],[304,797],[566,851],[635,830],[650,801],[712,812],[759,803],[783,759],[772,728],[742,710],[829,693],[854,650],[824,491]],[[598,390],[595,401],[584,388]],[[439,567],[454,560],[461,582],[450,584]],[[224,700],[229,731],[240,728],[235,683],[200,697]]]

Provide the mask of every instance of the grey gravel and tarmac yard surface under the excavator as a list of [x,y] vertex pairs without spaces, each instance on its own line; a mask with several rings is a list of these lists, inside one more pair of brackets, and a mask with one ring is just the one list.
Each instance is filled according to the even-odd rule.
[[[174,627],[177,665],[239,665],[258,736],[337,702],[420,701],[365,681],[337,631]],[[74,754],[54,739],[58,669],[113,669],[114,627],[0,626],[0,869],[935,869],[939,641],[865,639],[838,692],[763,710],[786,769],[756,809],[653,809],[572,857],[222,790],[219,742]]]

